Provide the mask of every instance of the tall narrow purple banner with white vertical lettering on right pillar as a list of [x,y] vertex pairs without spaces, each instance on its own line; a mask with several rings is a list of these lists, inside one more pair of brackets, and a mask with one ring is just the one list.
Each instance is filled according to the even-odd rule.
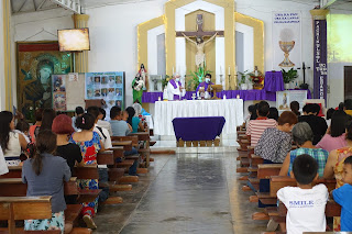
[[328,91],[327,21],[315,20],[315,99],[324,99]]

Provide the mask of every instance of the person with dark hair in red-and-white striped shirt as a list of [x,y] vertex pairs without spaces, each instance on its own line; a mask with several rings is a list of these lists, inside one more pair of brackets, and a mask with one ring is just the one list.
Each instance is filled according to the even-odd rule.
[[257,118],[256,120],[251,120],[246,126],[246,135],[251,136],[251,146],[256,146],[258,140],[261,138],[263,132],[267,127],[276,127],[277,122],[272,119],[267,119],[270,113],[270,105],[266,101],[261,101],[257,105]]

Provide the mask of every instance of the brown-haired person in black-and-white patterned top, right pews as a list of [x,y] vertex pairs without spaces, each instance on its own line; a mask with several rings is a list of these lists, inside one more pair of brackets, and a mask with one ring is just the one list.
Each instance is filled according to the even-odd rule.
[[297,116],[292,111],[285,111],[278,118],[276,127],[268,127],[262,134],[254,154],[264,159],[264,164],[282,164],[292,149],[292,136],[289,132],[297,123]]

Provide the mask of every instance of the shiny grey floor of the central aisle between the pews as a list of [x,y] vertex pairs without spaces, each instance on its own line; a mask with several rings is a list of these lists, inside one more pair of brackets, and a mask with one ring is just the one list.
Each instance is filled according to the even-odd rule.
[[153,155],[151,171],[133,190],[119,192],[124,202],[101,208],[95,233],[235,233],[265,231],[252,221],[257,211],[241,190],[237,153]]

